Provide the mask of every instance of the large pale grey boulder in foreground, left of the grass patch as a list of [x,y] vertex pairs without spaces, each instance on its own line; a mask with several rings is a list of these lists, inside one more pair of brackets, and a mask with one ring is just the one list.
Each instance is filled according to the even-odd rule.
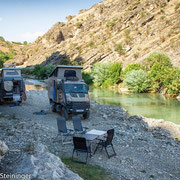
[[35,145],[33,154],[24,154],[23,160],[15,170],[16,174],[31,174],[29,179],[38,180],[82,180],[70,171],[54,154],[48,152],[43,144]]

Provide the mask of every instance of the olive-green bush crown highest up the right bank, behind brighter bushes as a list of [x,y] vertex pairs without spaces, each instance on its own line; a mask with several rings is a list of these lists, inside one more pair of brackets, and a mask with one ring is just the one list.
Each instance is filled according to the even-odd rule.
[[159,53],[159,52],[154,52],[150,54],[144,61],[143,61],[143,66],[145,67],[146,70],[150,70],[154,63],[160,63],[164,66],[171,66],[171,60],[170,58],[164,54],[164,53]]

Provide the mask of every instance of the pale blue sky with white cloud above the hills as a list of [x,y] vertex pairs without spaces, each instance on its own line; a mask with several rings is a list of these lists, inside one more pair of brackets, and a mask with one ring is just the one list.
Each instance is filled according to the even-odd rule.
[[0,36],[33,42],[56,22],[102,0],[0,0]]

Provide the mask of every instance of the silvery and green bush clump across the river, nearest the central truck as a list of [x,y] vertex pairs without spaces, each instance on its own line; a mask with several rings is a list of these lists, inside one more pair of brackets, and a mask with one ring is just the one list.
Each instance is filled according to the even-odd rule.
[[121,80],[121,63],[96,63],[92,68],[95,86],[111,86]]

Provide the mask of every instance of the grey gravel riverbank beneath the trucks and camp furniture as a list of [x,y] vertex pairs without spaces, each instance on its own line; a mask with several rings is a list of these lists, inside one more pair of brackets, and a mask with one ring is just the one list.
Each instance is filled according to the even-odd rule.
[[[50,111],[47,91],[28,91],[27,97],[21,106],[0,106],[0,140],[5,141],[10,150],[22,150],[17,162],[8,165],[6,160],[1,162],[3,171],[17,172],[15,167],[19,167],[18,172],[24,172],[24,157],[31,154],[38,144],[47,146],[55,156],[72,154],[73,146],[62,146],[60,138],[56,137],[56,118],[60,115]],[[41,110],[44,112],[42,115],[35,113]],[[114,179],[180,178],[179,125],[129,116],[120,106],[96,102],[91,102],[91,116],[82,123],[89,129],[115,129],[113,144],[117,155],[108,159],[104,151],[98,151],[89,159],[90,164],[105,168]],[[72,128],[71,120],[67,121],[67,126]]]

